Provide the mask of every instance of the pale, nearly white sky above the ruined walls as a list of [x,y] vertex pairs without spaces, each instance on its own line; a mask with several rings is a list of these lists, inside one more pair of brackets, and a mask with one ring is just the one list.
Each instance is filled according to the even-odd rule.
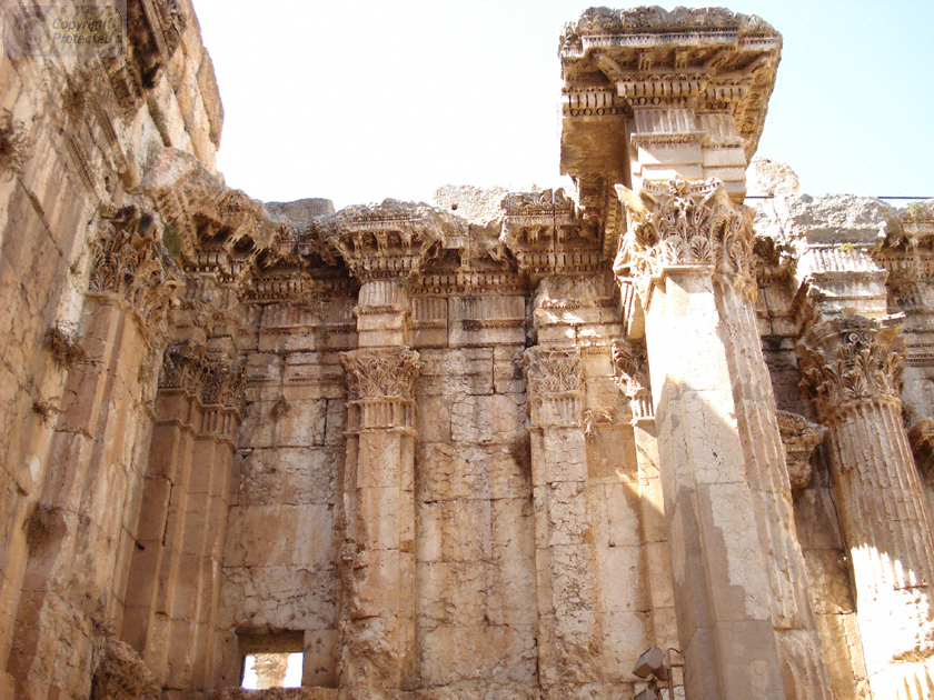
[[[193,2],[231,187],[340,208],[562,184],[558,36],[592,2]],[[759,154],[812,193],[934,196],[934,0],[727,7],[784,37]]]

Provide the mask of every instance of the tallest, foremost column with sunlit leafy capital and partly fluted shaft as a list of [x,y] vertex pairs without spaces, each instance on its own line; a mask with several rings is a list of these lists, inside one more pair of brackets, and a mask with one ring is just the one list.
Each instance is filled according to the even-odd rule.
[[829,698],[755,322],[751,212],[717,180],[626,192],[616,269],[645,312],[688,697]]

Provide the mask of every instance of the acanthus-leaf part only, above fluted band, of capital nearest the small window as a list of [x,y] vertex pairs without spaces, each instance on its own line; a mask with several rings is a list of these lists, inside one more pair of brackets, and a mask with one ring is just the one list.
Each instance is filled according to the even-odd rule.
[[351,401],[413,401],[421,369],[409,348],[352,350],[340,356]]

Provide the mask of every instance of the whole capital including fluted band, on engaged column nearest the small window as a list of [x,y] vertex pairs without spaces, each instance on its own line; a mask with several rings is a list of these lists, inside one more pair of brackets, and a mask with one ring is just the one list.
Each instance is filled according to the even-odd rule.
[[340,356],[354,409],[351,429],[413,430],[415,381],[421,370],[418,352],[409,348],[351,350]]

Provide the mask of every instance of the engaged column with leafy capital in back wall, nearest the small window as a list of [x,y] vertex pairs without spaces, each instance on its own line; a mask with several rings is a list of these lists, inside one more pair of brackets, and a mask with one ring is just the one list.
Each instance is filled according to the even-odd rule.
[[341,356],[347,373],[342,683],[396,698],[416,682],[415,380],[418,353]]

